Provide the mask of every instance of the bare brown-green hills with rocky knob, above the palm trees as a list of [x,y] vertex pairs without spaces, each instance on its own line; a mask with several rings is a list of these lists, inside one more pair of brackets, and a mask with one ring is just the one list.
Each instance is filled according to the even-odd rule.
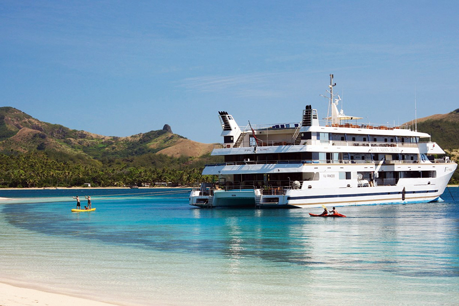
[[[171,154],[165,150],[179,144],[180,149],[170,150],[173,151]],[[43,122],[12,107],[0,108],[0,153],[7,155],[42,151],[55,158],[102,165],[162,150],[161,154],[168,156],[196,159],[208,154],[211,149],[210,144],[197,143],[171,133],[167,124],[163,130],[129,137],[108,137]],[[177,155],[177,152],[180,154]]]

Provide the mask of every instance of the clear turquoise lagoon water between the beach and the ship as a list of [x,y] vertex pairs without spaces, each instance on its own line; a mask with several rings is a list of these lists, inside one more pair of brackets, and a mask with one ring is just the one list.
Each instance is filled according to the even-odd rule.
[[[0,276],[126,305],[457,305],[449,190],[456,202],[338,208],[347,218],[197,209],[188,190],[5,190]],[[97,210],[71,213],[77,194]]]

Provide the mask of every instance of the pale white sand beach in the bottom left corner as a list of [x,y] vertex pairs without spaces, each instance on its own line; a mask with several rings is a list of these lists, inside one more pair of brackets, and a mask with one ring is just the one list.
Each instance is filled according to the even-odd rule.
[[113,306],[115,304],[0,283],[0,306]]

